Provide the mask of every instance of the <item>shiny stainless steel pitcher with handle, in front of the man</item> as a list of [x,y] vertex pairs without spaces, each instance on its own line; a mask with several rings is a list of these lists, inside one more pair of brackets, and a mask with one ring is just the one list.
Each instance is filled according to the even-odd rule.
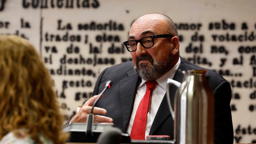
[[[206,69],[183,71],[183,82],[167,80],[167,102],[174,120],[176,144],[214,143],[214,95],[207,83]],[[170,103],[169,85],[178,87],[174,111]]]

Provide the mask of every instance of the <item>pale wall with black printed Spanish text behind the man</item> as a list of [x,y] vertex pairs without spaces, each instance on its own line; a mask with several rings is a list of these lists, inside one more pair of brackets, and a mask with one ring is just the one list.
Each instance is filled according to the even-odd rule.
[[234,143],[256,143],[255,0],[1,0],[0,34],[28,39],[53,77],[65,120],[92,97],[101,71],[131,60],[133,20],[158,12],[176,24],[180,55],[232,88]]

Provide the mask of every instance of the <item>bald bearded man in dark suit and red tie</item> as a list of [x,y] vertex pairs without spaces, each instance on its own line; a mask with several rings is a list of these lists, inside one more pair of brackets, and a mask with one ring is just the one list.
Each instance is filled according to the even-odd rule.
[[[139,126],[136,112],[146,93],[146,83],[156,81],[146,112],[142,131],[135,135],[169,135],[173,139],[173,119],[166,101],[167,78],[182,82],[183,74],[177,69],[202,69],[193,63],[183,60],[179,55],[178,31],[173,21],[159,13],[145,14],[134,21],[128,41],[124,42],[132,56],[132,61],[106,68],[98,77],[93,92],[94,97],[88,100],[71,122],[86,122],[91,106],[98,93],[103,90],[106,81],[111,80],[111,89],[98,101],[93,113],[94,121],[113,123],[134,137],[134,130]],[[231,118],[230,84],[217,73],[208,70],[206,77],[215,96],[215,144],[233,143],[233,124]],[[174,105],[176,88],[170,92]],[[134,126],[134,127],[133,127]],[[136,138],[136,136],[135,136]]]

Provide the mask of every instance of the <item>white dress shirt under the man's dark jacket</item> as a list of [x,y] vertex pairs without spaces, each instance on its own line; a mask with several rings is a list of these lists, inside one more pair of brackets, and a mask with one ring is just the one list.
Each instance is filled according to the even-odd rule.
[[[150,108],[147,114],[147,124],[146,124],[146,131],[145,131],[145,139],[146,136],[149,134],[149,131],[151,129],[151,126],[153,124],[154,118],[156,116],[157,110],[160,107],[160,104],[163,100],[163,97],[166,93],[166,87],[167,87],[167,78],[173,78],[173,76],[175,75],[178,67],[180,64],[180,58],[177,62],[177,64],[170,69],[165,75],[163,75],[161,78],[157,79],[156,82],[158,83],[155,86],[155,89],[153,90],[152,93],[152,98],[151,98],[151,104],[150,104]],[[127,132],[129,134],[131,134],[131,130],[132,130],[132,124],[136,115],[136,111],[137,108],[139,106],[139,103],[141,101],[141,99],[143,98],[143,96],[146,93],[146,84],[145,84],[146,80],[142,79],[141,83],[139,84],[137,91],[136,91],[136,96],[135,96],[135,101],[134,101],[134,105],[133,105],[133,110],[132,110],[132,115],[128,124],[128,128],[127,128]],[[169,110],[169,109],[168,109]]]

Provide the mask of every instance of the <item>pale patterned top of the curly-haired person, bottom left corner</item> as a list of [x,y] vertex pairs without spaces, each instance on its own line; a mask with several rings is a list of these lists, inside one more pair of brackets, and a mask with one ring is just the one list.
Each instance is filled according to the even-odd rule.
[[[53,144],[53,142],[42,135],[39,135],[39,139],[43,144]],[[1,140],[0,144],[36,144],[27,133],[26,129],[17,129],[7,133]]]

